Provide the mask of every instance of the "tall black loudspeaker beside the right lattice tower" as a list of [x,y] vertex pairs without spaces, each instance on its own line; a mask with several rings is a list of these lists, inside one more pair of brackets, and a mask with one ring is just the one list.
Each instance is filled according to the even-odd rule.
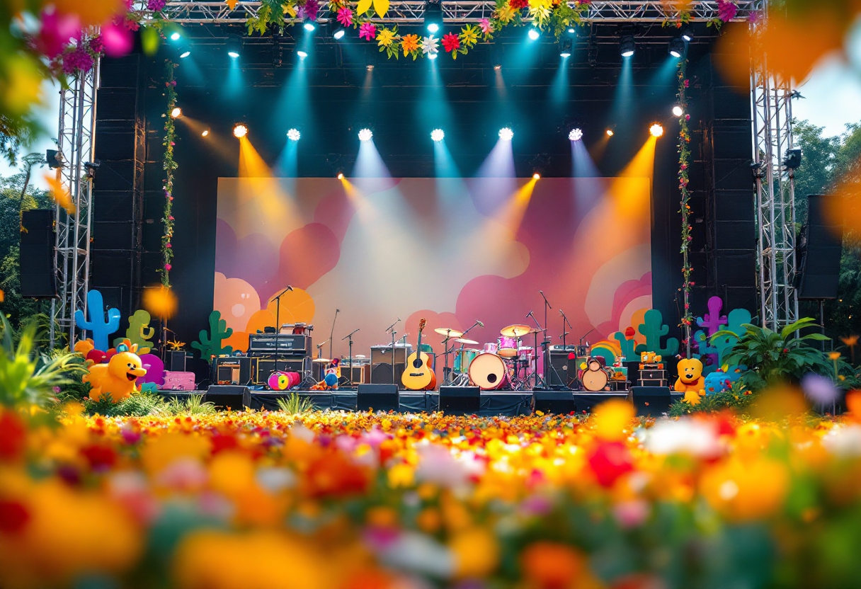
[[808,222],[796,245],[796,288],[802,301],[836,299],[843,252],[843,226],[833,225],[823,212],[827,199],[808,196]]

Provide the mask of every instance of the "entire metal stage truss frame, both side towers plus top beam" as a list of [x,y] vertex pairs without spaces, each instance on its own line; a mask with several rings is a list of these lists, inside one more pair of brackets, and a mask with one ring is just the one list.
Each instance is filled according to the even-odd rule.
[[[646,2],[592,2],[585,22],[650,22],[663,24],[678,16],[687,4],[691,20],[709,22],[717,18],[718,3],[648,0]],[[736,20],[754,14],[765,17],[765,0],[740,0]],[[379,22],[420,23],[424,0],[393,0],[389,14]],[[238,2],[230,9],[225,2],[169,2],[163,14],[179,24],[245,24],[257,15],[261,3]],[[451,24],[489,18],[496,2],[462,0],[443,2],[443,21]],[[326,22],[326,19],[319,19]],[[756,25],[752,25],[755,29]],[[755,30],[754,30],[755,32]],[[777,329],[798,318],[798,300],[792,280],[796,271],[795,183],[784,171],[783,158],[793,146],[792,90],[768,71],[765,56],[754,55],[751,68],[753,106],[753,161],[759,164],[756,183],[758,231],[757,271],[762,325]],[[90,197],[92,180],[84,164],[92,161],[95,145],[98,65],[82,80],[63,92],[60,102],[59,149],[67,159],[63,182],[76,204],[75,214],[58,208],[55,260],[59,277],[59,301],[52,303],[52,317],[62,332],[75,340],[74,311],[86,309],[90,280]],[[52,338],[54,337],[52,325]]]

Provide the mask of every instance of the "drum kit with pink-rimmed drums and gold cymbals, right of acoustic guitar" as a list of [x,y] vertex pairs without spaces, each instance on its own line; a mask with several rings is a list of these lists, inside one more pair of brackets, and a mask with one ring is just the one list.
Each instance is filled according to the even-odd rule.
[[[470,328],[472,329],[472,328]],[[467,332],[445,327],[434,330],[445,336],[445,370],[443,384],[465,387],[472,383],[482,390],[530,390],[539,382],[537,349],[538,332],[529,325],[508,325],[499,332],[495,342],[484,344],[464,338]],[[536,345],[523,345],[523,337],[535,335]],[[449,349],[449,342],[453,342]],[[454,367],[449,372],[449,354],[454,354]]]

